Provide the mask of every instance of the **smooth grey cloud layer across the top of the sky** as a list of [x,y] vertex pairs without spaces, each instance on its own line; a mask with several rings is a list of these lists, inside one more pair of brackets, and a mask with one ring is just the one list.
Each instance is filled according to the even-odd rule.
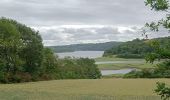
[[[5,0],[3,0],[5,1]],[[0,14],[30,26],[65,24],[143,25],[162,15],[143,0],[7,0]],[[150,17],[152,16],[152,17]]]

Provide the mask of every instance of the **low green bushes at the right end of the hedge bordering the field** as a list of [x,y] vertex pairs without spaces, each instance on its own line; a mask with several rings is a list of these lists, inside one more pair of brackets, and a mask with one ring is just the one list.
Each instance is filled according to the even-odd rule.
[[97,79],[101,73],[93,59],[64,58],[59,59],[59,77],[62,79]]

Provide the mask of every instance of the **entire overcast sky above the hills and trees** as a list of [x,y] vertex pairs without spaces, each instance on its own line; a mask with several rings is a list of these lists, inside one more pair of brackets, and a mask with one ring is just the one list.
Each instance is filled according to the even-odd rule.
[[[44,45],[54,46],[142,38],[141,27],[165,14],[144,0],[0,0],[0,16],[38,30]],[[169,35],[151,33],[149,38]]]

